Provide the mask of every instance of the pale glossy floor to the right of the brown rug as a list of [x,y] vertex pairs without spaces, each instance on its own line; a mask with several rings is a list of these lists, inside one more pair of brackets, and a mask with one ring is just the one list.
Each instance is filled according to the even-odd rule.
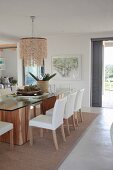
[[88,128],[59,170],[113,170],[113,146],[110,138],[113,109],[84,110],[101,114]]

